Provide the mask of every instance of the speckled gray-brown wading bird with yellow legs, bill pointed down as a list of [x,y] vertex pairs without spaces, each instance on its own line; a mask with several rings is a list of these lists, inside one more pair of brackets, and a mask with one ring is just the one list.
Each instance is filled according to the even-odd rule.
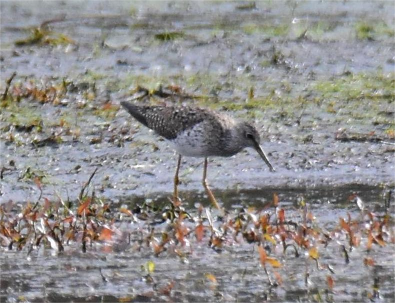
[[189,106],[142,106],[130,102],[120,104],[140,123],[172,143],[178,153],[174,176],[174,201],[178,201],[177,186],[181,156],[204,158],[202,183],[210,202],[218,208],[206,181],[207,157],[229,157],[245,147],[255,149],[270,171],[274,172],[263,149],[256,128],[246,121],[209,109]]

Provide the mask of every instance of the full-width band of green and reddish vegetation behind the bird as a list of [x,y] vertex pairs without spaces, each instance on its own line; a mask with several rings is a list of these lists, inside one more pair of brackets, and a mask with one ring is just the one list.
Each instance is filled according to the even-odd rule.
[[[31,129],[38,124],[41,124],[42,129],[43,117],[39,115],[40,109],[37,107],[36,110],[32,110],[31,106],[25,103],[26,101],[61,106],[64,108],[62,119],[69,121],[75,118],[67,117],[67,112],[70,111],[68,108],[74,107],[77,111],[81,111],[79,114],[77,112],[77,115],[88,112],[105,120],[113,119],[119,110],[117,102],[112,102],[108,97],[102,101],[102,104],[98,105],[94,102],[98,94],[96,83],[101,81],[100,79],[102,79],[100,75],[91,77],[89,73],[85,73],[83,81],[79,83],[65,79],[52,80],[45,84],[38,84],[36,79],[19,81],[4,90],[0,106],[5,108],[7,113],[4,113],[1,119],[18,129],[24,127]],[[173,80],[184,83],[186,88],[173,84],[171,79],[134,75],[119,81],[105,82],[104,85],[107,93],[121,89],[125,91],[126,96],[134,99],[151,98],[151,102],[162,102],[163,99],[169,102],[176,100],[175,102],[193,103],[196,106],[216,110],[248,110],[250,114],[262,110],[274,112],[281,110],[289,115],[295,115],[297,114],[295,108],[303,110],[312,107],[319,112],[324,106],[327,113],[336,114],[337,118],[349,112],[350,114],[344,115],[343,119],[351,117],[366,122],[375,119],[375,124],[387,124],[389,129],[393,128],[391,111],[386,109],[395,101],[395,75],[392,73],[345,72],[331,79],[311,81],[305,93],[294,91],[289,83],[283,82],[279,88],[265,92],[263,95],[256,93],[257,90],[261,91],[261,88],[258,89],[256,83],[251,82],[248,76],[240,76],[229,82],[230,79],[215,77],[213,74],[196,73],[177,76]],[[145,85],[141,86],[141,83]],[[221,92],[229,87],[242,92],[244,97],[221,98],[219,96]],[[187,93],[187,90],[198,91],[200,94]],[[76,103],[71,101],[73,98],[77,98]],[[357,110],[360,107],[367,110]],[[69,112],[69,115],[75,114]],[[53,123],[54,121],[51,121],[49,124]]]

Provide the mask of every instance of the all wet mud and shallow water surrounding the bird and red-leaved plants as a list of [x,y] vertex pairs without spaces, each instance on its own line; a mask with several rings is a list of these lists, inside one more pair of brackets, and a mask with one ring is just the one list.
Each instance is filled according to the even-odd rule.
[[[239,1],[195,2],[0,2],[0,92],[13,71],[15,84],[72,82],[61,106],[21,98],[1,108],[0,165],[6,170],[0,204],[35,203],[40,196],[35,177],[41,180],[42,197],[76,201],[96,167],[87,190],[97,199],[114,208],[165,204],[172,191],[174,152],[122,109],[109,116],[99,111],[108,100],[117,105],[131,98],[137,85],[153,89],[161,83],[213,100],[184,103],[214,107],[257,125],[277,172],[268,172],[252,150],[210,159],[208,182],[228,212],[260,209],[276,192],[292,218],[300,216],[295,205],[303,197],[319,227],[332,230],[339,217],[358,216],[357,206],[348,200],[355,193],[382,214],[384,194],[395,189],[390,136],[395,3],[262,0],[245,9],[238,7]],[[74,43],[15,46],[32,27],[48,20],[55,36],[64,34]],[[173,31],[182,38],[155,38]],[[248,103],[250,88],[267,105]],[[42,122],[40,130],[17,130],[36,120]],[[343,142],[336,139],[342,131],[384,139]],[[32,144],[54,133],[60,134],[60,143]],[[191,212],[198,204],[209,206],[201,175],[201,159],[183,158],[179,191]],[[140,224],[122,225],[122,232],[147,228]],[[268,287],[256,247],[244,242],[220,253],[208,248],[207,241],[191,242],[183,248],[187,257],[180,258],[172,249],[154,257],[151,249],[137,250],[121,240],[116,245],[95,243],[86,254],[79,244],[62,254],[41,247],[29,256],[2,247],[0,302],[316,302],[317,294],[324,297],[327,289],[327,270],[317,271],[308,258],[281,252],[273,253],[286,264],[286,270],[278,271],[284,284]],[[321,252],[320,261],[335,268],[334,302],[366,301],[376,276],[380,302],[395,297],[393,244],[370,253],[364,245],[349,253],[346,266],[335,241]],[[376,266],[363,266],[365,257]],[[149,260],[156,265],[156,286],[144,281],[140,268]],[[311,285],[304,283],[306,268]],[[170,281],[170,297],[155,291]]]

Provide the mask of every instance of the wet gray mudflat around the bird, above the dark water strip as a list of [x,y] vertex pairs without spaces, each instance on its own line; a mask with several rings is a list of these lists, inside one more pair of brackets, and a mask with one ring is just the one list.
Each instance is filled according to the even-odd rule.
[[[129,97],[130,89],[136,85],[152,87],[157,82],[174,83],[197,95],[230,98],[235,103],[243,102],[248,87],[254,88],[256,96],[272,93],[278,98],[277,103],[268,105],[264,111],[252,108],[229,112],[236,118],[256,123],[262,146],[277,173],[269,173],[253,151],[230,159],[215,158],[208,170],[213,188],[303,188],[395,182],[393,142],[335,139],[344,130],[374,133],[385,139],[388,129],[393,127],[395,109],[390,89],[395,71],[391,51],[394,38],[385,33],[394,27],[391,1],[382,4],[262,1],[252,10],[237,9],[236,2],[221,1],[168,2],[160,10],[154,8],[155,1],[133,4],[118,1],[116,5],[106,5],[105,1],[84,4],[52,1],[42,6],[34,3],[2,1],[0,4],[4,15],[0,20],[0,80],[13,71],[17,72],[14,82],[28,77],[44,86],[51,79],[56,82],[64,77],[75,81],[83,93],[95,90],[96,97],[89,101],[81,92],[69,94],[65,97],[67,105],[62,107],[22,99],[17,109],[20,113],[3,111],[0,128],[11,125],[11,130],[1,136],[1,164],[8,167],[12,160],[16,170],[4,174],[0,201],[34,200],[38,196],[29,180],[18,180],[28,167],[46,176],[43,189],[46,195],[78,191],[94,166],[100,166],[97,177],[101,180],[96,179],[95,186],[101,189],[104,198],[149,194],[152,187],[157,192],[170,192],[176,157],[167,144],[158,142],[157,137],[141,128],[122,109],[113,118],[94,113],[108,98],[118,104]],[[15,40],[29,34],[26,28],[51,19],[59,20],[50,23],[50,29],[69,35],[75,45],[13,45]],[[355,37],[355,26],[361,20],[368,24],[384,22],[388,28],[376,29],[374,39],[360,40]],[[287,30],[273,33],[270,26],[285,26]],[[295,32],[300,34],[303,29],[308,29],[306,38],[297,39]],[[182,31],[185,37],[164,43],[155,40],[152,35],[162,30]],[[278,59],[278,64],[269,64],[276,51],[282,59]],[[389,99],[362,97],[362,102],[355,103],[336,97],[335,89],[326,93],[314,89],[314,85],[322,84],[320,81],[359,71],[382,73],[389,87],[378,86],[378,90],[371,92],[369,79],[345,81],[355,83],[362,96],[388,94]],[[366,83],[358,84],[360,81]],[[314,104],[314,97],[322,93],[327,95],[324,100],[328,99],[329,104]],[[306,98],[306,105],[295,103],[300,96]],[[328,111],[333,98],[340,99],[340,104],[334,107],[335,113]],[[83,102],[86,107],[81,107]],[[32,119],[42,121],[41,133],[34,129],[31,133],[13,130],[12,125],[28,125]],[[56,126],[60,119],[70,125],[71,131],[80,133],[80,138],[73,140],[62,134],[64,129]],[[119,134],[122,128],[131,130],[128,141],[122,141],[124,136]],[[61,144],[31,146],[31,140],[52,133],[60,133]],[[10,134],[15,136],[11,144],[7,142]],[[101,138],[101,143],[87,144],[97,138]],[[196,167],[201,160],[184,158],[184,161],[181,179],[187,185],[185,190],[200,190],[201,168]],[[76,166],[80,168],[74,170]]]

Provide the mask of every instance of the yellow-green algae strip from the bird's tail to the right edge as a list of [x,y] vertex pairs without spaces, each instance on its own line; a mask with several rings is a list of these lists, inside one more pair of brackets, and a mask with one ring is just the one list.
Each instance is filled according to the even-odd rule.
[[[276,118],[280,120],[295,118],[299,114],[298,111],[303,111],[306,107],[318,107],[323,108],[328,114],[339,114],[340,120],[352,117],[355,120],[371,123],[380,106],[392,102],[395,97],[393,75],[381,71],[344,73],[325,80],[311,81],[304,94],[295,94],[292,91],[292,85],[287,81],[282,81],[280,84],[270,84],[271,89],[267,89],[268,83],[265,83],[263,90],[268,92],[258,94],[255,81],[247,74],[240,74],[232,78],[215,73],[177,74],[168,77],[130,75],[120,79],[117,85],[128,89],[132,94],[135,92],[133,87],[136,85],[141,85],[152,91],[157,89],[160,83],[163,86],[177,83],[177,85],[185,87],[186,92],[195,92],[193,100],[181,98],[186,103],[214,110],[246,111],[250,113],[251,117],[259,117],[259,112],[268,110],[280,111],[283,114]],[[244,91],[245,97],[220,98],[221,91],[229,88]],[[251,88],[253,88],[252,93]],[[281,93],[278,94],[277,90],[280,90]],[[160,98],[154,97],[152,101],[156,103],[159,100]],[[168,100],[174,101],[173,98]],[[358,108],[363,108],[363,110],[357,110]]]

